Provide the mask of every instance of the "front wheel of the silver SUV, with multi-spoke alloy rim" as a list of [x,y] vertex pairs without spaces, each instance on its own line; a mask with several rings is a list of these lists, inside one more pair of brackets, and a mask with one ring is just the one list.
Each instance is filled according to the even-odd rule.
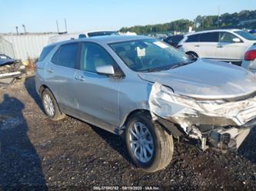
[[172,136],[151,120],[150,114],[139,113],[128,119],[125,143],[135,165],[148,173],[162,170],[171,162]]

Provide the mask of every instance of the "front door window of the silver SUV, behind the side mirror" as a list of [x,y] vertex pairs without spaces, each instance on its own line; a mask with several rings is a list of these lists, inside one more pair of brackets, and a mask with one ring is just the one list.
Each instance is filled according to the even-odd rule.
[[81,61],[80,69],[97,73],[96,68],[99,66],[112,65],[115,68],[115,61],[100,45],[92,42],[81,44]]

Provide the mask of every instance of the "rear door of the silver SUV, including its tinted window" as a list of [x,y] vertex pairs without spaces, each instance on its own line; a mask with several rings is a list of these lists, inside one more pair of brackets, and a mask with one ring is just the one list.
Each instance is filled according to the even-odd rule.
[[74,76],[78,61],[78,43],[61,45],[45,68],[46,81],[58,105],[67,114],[75,110]]

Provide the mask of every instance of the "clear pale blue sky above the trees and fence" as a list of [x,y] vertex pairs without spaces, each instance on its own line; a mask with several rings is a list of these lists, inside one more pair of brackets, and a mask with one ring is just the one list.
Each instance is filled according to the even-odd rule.
[[0,0],[0,33],[68,32],[111,29],[133,25],[152,25],[181,18],[193,20],[197,15],[255,10],[256,0]]

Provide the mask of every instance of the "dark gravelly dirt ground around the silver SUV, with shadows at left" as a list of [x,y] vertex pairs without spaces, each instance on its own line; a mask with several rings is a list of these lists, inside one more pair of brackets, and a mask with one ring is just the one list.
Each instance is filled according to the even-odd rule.
[[143,173],[121,138],[72,117],[48,120],[34,77],[28,77],[0,88],[0,189],[256,190],[255,135],[252,130],[238,153],[227,154],[175,142],[166,170]]

